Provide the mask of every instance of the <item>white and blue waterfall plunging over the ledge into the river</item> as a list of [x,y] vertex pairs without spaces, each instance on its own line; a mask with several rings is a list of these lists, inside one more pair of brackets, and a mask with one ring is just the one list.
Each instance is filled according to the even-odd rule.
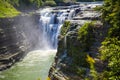
[[40,12],[40,29],[42,48],[56,49],[61,26],[66,19],[71,19],[74,10],[43,9]]

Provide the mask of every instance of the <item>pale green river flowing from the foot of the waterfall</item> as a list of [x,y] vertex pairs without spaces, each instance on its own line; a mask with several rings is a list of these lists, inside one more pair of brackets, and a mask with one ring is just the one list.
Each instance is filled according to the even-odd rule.
[[56,50],[35,50],[10,69],[0,72],[0,80],[46,80]]

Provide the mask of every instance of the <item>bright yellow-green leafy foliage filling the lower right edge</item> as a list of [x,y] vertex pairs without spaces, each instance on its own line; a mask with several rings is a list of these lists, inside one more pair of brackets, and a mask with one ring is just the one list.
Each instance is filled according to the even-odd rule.
[[101,59],[108,62],[109,79],[120,79],[120,40],[106,38],[100,49]]

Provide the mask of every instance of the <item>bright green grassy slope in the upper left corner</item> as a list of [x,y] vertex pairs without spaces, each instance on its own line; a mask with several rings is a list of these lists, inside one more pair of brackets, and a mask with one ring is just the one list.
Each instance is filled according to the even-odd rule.
[[19,14],[20,12],[17,11],[11,4],[4,0],[0,0],[0,18],[14,17]]

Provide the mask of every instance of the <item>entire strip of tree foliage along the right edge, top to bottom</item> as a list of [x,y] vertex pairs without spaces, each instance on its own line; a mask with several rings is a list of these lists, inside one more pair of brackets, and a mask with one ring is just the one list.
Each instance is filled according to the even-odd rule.
[[120,79],[120,2],[119,0],[105,0],[103,7],[104,23],[110,26],[108,37],[100,48],[101,59],[107,62],[105,69],[107,80]]

